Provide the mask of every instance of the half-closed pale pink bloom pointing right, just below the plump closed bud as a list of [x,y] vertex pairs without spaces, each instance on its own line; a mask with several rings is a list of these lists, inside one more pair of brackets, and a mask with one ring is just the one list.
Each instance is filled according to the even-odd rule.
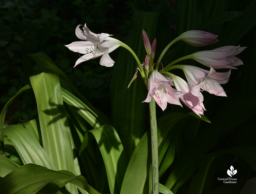
[[223,46],[213,50],[204,50],[189,55],[189,58],[214,69],[237,69],[235,66],[243,65],[243,61],[235,55],[247,47]]

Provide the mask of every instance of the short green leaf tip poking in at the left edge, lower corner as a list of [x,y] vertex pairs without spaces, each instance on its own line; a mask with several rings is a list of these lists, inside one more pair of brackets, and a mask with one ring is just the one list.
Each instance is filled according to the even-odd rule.
[[9,158],[4,157],[2,154],[0,154],[0,165],[0,177],[4,177],[20,166]]

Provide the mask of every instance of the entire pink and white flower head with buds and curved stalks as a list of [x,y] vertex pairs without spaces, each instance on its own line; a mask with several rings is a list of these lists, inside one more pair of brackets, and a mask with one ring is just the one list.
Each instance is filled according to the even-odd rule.
[[[163,111],[166,109],[167,103],[182,106],[180,103],[181,100],[184,105],[201,117],[205,110],[202,92],[207,91],[216,96],[227,96],[220,84],[225,84],[228,82],[231,69],[237,69],[236,66],[243,65],[243,61],[236,57],[236,55],[241,53],[246,47],[240,47],[240,45],[224,46],[213,50],[195,52],[176,59],[169,65],[163,67],[159,72],[157,71],[159,63],[161,62],[164,53],[171,47],[173,43],[183,41],[192,46],[201,47],[217,43],[218,36],[200,30],[184,32],[166,46],[158,59],[158,64],[154,69],[153,61],[156,52],[156,38],[153,40],[152,44],[150,44],[148,35],[144,30],[142,30],[142,38],[147,55],[145,62],[140,64],[138,57],[126,44],[115,38],[109,37],[111,35],[106,33],[95,34],[91,32],[86,25],[84,25],[83,30],[81,30],[80,26],[81,25],[76,27],[76,36],[83,41],[73,42],[65,45],[68,47],[68,49],[78,52],[79,55],[80,53],[84,54],[82,57],[80,56],[80,58],[78,58],[75,66],[83,61],[100,56],[102,56],[100,59],[100,65],[108,67],[113,66],[115,61],[110,58],[108,53],[112,52],[119,46],[126,48],[127,50],[131,51],[132,55],[139,64],[132,81],[137,77],[137,74],[140,71],[143,81],[148,87],[148,96],[143,102],[150,102],[153,97]],[[206,67],[210,67],[210,70],[205,70],[190,65],[175,65],[177,62],[188,58],[194,59]],[[183,70],[187,81],[170,73],[169,71],[172,69]],[[215,69],[230,70],[228,72],[219,73],[216,72]],[[168,79],[164,75],[167,76]],[[132,81],[130,82],[129,86],[131,85]],[[172,88],[172,86],[174,86],[175,89]]]

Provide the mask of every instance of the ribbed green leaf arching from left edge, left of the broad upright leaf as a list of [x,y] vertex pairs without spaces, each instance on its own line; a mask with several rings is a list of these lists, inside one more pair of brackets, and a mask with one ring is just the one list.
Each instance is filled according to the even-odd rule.
[[55,165],[32,131],[21,125],[9,125],[1,131],[12,141],[24,164],[33,163],[56,170]]

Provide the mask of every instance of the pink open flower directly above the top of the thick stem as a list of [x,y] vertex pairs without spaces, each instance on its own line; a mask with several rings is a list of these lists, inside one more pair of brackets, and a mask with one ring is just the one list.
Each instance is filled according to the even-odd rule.
[[173,89],[171,85],[172,80],[168,81],[158,71],[152,70],[148,81],[148,96],[143,102],[150,102],[153,97],[163,111],[167,107],[167,102],[182,106],[179,98],[183,96],[183,92]]

